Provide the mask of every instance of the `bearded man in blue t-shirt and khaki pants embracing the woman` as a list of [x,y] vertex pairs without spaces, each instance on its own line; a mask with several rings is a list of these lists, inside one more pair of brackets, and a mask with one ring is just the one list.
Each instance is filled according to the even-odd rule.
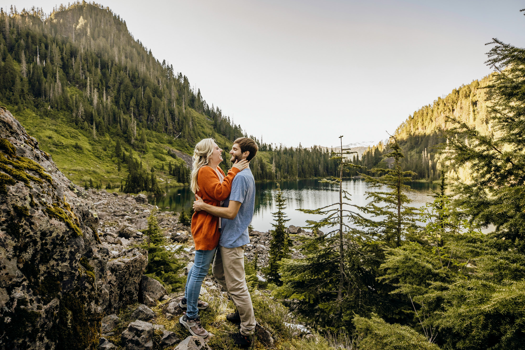
[[[250,161],[258,149],[254,140],[247,137],[238,138],[230,151],[230,161]],[[212,271],[219,284],[232,296],[232,301],[237,307],[234,314],[226,316],[230,322],[240,322],[239,333],[232,336],[234,343],[244,347],[250,346],[250,335],[255,330],[255,315],[244,273],[244,247],[250,242],[248,225],[254,216],[255,208],[255,180],[250,168],[237,173],[232,182],[232,192],[222,207],[206,204],[197,196],[193,208],[195,211],[204,210],[223,218]]]

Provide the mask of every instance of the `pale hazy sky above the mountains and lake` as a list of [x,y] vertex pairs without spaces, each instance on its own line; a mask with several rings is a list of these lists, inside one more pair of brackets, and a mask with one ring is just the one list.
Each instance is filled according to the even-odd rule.
[[[17,9],[56,1],[14,1]],[[525,46],[524,1],[101,1],[248,135],[377,141],[490,73],[492,37]],[[8,8],[5,6],[4,8]]]

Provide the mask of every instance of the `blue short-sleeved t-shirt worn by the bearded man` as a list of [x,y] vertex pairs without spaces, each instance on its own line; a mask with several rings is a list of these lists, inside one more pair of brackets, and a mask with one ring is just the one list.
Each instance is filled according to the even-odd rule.
[[233,220],[222,219],[219,245],[224,248],[237,248],[250,243],[248,226],[254,217],[255,208],[255,180],[250,168],[238,172],[233,178],[232,193],[224,201],[223,207],[228,207],[230,200],[242,204]]

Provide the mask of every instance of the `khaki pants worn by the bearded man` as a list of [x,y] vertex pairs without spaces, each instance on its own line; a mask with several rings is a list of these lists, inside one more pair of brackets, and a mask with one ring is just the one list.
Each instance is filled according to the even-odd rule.
[[244,273],[244,245],[237,248],[218,246],[212,266],[213,275],[232,296],[240,315],[240,333],[250,335],[255,330],[254,307]]

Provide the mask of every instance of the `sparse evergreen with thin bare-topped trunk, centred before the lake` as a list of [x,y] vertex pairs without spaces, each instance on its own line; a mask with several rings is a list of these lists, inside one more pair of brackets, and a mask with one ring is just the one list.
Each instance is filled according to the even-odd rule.
[[300,250],[306,258],[282,259],[279,273],[283,285],[275,291],[282,300],[295,299],[290,307],[306,317],[307,322],[334,329],[352,327],[351,315],[363,311],[363,307],[367,308],[365,313],[370,312],[363,301],[369,297],[368,286],[375,285],[374,277],[366,272],[373,258],[367,243],[360,239],[361,208],[349,203],[350,194],[343,190],[343,174],[356,166],[347,161],[352,152],[343,149],[340,138],[341,150],[331,157],[338,163],[339,177],[321,180],[338,187],[339,201],[323,208],[299,209],[324,216],[317,221],[307,220],[307,227],[313,231],[334,229],[313,238],[302,238]]

